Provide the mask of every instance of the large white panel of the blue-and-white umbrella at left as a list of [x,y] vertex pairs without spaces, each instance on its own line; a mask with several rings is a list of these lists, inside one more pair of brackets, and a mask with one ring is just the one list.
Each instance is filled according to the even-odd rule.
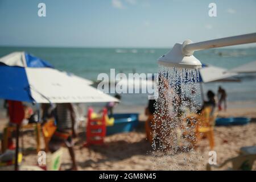
[[118,101],[86,84],[82,78],[52,68],[27,68],[31,96],[39,103]]

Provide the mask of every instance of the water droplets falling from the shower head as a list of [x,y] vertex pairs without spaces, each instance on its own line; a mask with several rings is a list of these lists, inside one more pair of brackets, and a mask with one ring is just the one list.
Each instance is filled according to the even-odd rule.
[[[198,69],[159,67],[158,98],[152,123],[152,154],[155,169],[193,168],[196,154],[193,119],[200,108]],[[192,117],[193,118],[193,117]]]

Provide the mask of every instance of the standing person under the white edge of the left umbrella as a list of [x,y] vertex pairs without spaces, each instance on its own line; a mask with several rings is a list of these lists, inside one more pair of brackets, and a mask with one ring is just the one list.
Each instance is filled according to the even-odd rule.
[[49,150],[55,152],[62,146],[68,147],[69,155],[72,160],[72,168],[77,170],[75,152],[73,149],[72,137],[76,137],[75,133],[75,113],[71,103],[56,104],[56,131],[49,141]]

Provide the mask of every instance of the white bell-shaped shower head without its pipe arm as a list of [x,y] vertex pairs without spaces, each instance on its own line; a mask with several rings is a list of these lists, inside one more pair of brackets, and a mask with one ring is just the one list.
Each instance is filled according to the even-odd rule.
[[201,68],[202,64],[195,56],[187,56],[184,52],[184,47],[189,43],[192,43],[191,40],[186,40],[183,44],[176,43],[171,51],[166,53],[166,55],[159,57],[158,64],[163,65],[164,67]]

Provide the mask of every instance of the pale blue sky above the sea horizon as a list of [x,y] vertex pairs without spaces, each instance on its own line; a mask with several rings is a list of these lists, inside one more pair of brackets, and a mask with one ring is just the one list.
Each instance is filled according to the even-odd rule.
[[255,18],[255,0],[0,0],[0,45],[172,47],[256,32]]

